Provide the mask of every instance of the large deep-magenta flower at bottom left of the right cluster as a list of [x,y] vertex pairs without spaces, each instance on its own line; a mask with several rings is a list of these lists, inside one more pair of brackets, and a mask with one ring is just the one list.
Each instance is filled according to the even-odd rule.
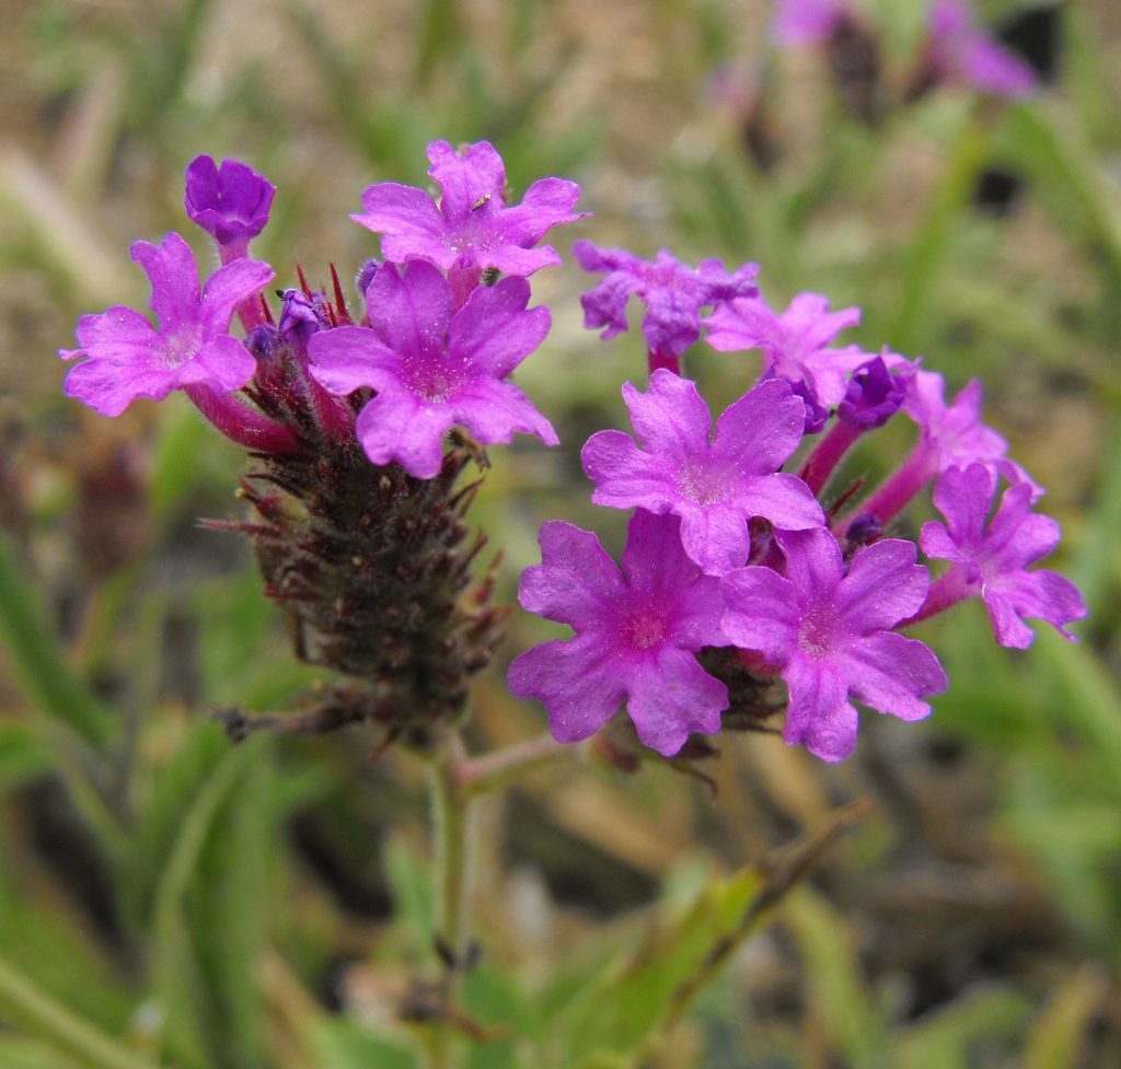
[[548,709],[560,742],[587,738],[624,699],[638,737],[667,757],[692,732],[720,729],[728,688],[694,656],[728,644],[720,583],[682,552],[677,526],[636,512],[622,573],[590,531],[559,520],[541,528],[541,563],[522,574],[518,599],[576,634],[515,658],[509,684]]

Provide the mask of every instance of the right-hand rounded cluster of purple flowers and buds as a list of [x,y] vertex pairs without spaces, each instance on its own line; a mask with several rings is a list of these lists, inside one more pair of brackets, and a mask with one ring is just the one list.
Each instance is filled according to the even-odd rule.
[[[1002,645],[1031,641],[1026,617],[1074,638],[1065,624],[1085,615],[1077,589],[1027,570],[1054,549],[1057,524],[1031,512],[1041,490],[982,422],[978,382],[947,405],[943,378],[918,362],[836,347],[859,309],[831,313],[816,294],[775,313],[757,292],[707,288],[700,271],[691,279],[666,252],[646,269],[585,243],[582,261],[613,267],[584,303],[612,313],[590,314],[590,326],[624,328],[629,289],[647,305],[648,341],[664,336],[673,304],[713,348],[756,350],[760,368],[713,427],[696,383],[651,359],[647,392],[623,387],[633,438],[603,430],[584,446],[593,502],[634,512],[621,573],[594,534],[554,522],[541,531],[543,563],[522,577],[522,606],[575,632],[510,668],[511,690],[546,706],[557,738],[589,737],[626,703],[640,741],[673,756],[729,709],[738,680],[703,667],[706,651],[723,649],[739,681],[785,681],[787,743],[839,761],[856,741],[853,700],[910,721],[946,687],[935,654],[902,629],[975,595]],[[748,277],[754,266],[729,278]],[[713,308],[704,319],[703,306]],[[899,412],[918,427],[911,453],[852,504],[859,487],[835,485],[842,458]],[[814,437],[797,473],[784,472]],[[986,523],[999,478],[1009,486]],[[926,524],[918,546],[883,537],[932,483],[946,523]],[[933,584],[919,549],[948,563]]]

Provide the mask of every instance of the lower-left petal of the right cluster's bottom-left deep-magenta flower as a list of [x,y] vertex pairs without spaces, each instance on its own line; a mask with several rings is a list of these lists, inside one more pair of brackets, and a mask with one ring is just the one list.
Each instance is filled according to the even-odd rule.
[[546,642],[516,657],[507,682],[519,698],[537,698],[548,710],[558,742],[595,734],[622,705],[623,677],[600,654],[594,636]]

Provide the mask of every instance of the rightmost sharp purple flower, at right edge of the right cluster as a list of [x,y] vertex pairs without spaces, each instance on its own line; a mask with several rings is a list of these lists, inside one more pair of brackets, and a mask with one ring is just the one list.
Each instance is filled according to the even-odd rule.
[[980,594],[1001,645],[1022,650],[1031,644],[1027,616],[1046,620],[1077,641],[1063,625],[1086,615],[1078,588],[1056,571],[1027,570],[1058,545],[1058,523],[1032,513],[1032,487],[1017,482],[985,526],[995,492],[997,476],[983,464],[952,467],[938,480],[934,503],[946,523],[924,524],[919,545],[951,568],[935,583],[921,615]]

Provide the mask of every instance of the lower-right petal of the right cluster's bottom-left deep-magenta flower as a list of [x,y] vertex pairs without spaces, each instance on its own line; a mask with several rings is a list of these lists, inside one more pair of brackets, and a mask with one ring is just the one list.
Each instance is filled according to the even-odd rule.
[[641,663],[630,679],[627,712],[638,737],[666,757],[693,732],[719,732],[725,708],[728,688],[684,650],[660,650],[656,662]]

